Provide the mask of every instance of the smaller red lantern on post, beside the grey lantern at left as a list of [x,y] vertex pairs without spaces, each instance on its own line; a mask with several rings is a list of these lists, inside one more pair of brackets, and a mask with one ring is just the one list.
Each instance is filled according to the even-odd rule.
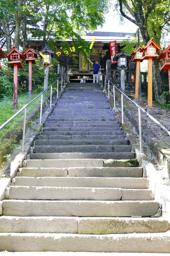
[[28,68],[28,95],[31,96],[32,94],[32,64],[35,64],[35,58],[37,58],[37,52],[33,49],[29,48],[23,53],[24,57],[26,58],[26,63],[29,65]]

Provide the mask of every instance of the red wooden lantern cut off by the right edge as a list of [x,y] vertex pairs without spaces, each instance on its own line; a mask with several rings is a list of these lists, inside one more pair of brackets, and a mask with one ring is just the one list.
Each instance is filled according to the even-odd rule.
[[158,61],[162,60],[162,66],[160,67],[161,71],[168,71],[168,80],[169,80],[169,93],[170,93],[170,44],[166,49],[164,49],[159,57]]

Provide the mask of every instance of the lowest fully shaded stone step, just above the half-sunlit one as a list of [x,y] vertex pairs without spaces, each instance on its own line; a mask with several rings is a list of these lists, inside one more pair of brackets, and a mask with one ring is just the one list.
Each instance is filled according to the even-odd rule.
[[33,147],[34,153],[62,153],[62,152],[131,152],[131,145],[38,145]]

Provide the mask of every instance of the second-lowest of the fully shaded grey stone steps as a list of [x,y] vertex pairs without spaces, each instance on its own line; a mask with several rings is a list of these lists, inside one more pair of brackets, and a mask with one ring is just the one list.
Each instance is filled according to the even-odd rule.
[[127,145],[121,140],[35,140],[35,145]]

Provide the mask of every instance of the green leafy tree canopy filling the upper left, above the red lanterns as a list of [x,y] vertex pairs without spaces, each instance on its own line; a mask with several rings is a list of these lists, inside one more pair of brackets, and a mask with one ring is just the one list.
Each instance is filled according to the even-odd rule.
[[28,47],[29,34],[54,40],[76,38],[104,22],[109,0],[1,0],[0,25],[7,51]]

